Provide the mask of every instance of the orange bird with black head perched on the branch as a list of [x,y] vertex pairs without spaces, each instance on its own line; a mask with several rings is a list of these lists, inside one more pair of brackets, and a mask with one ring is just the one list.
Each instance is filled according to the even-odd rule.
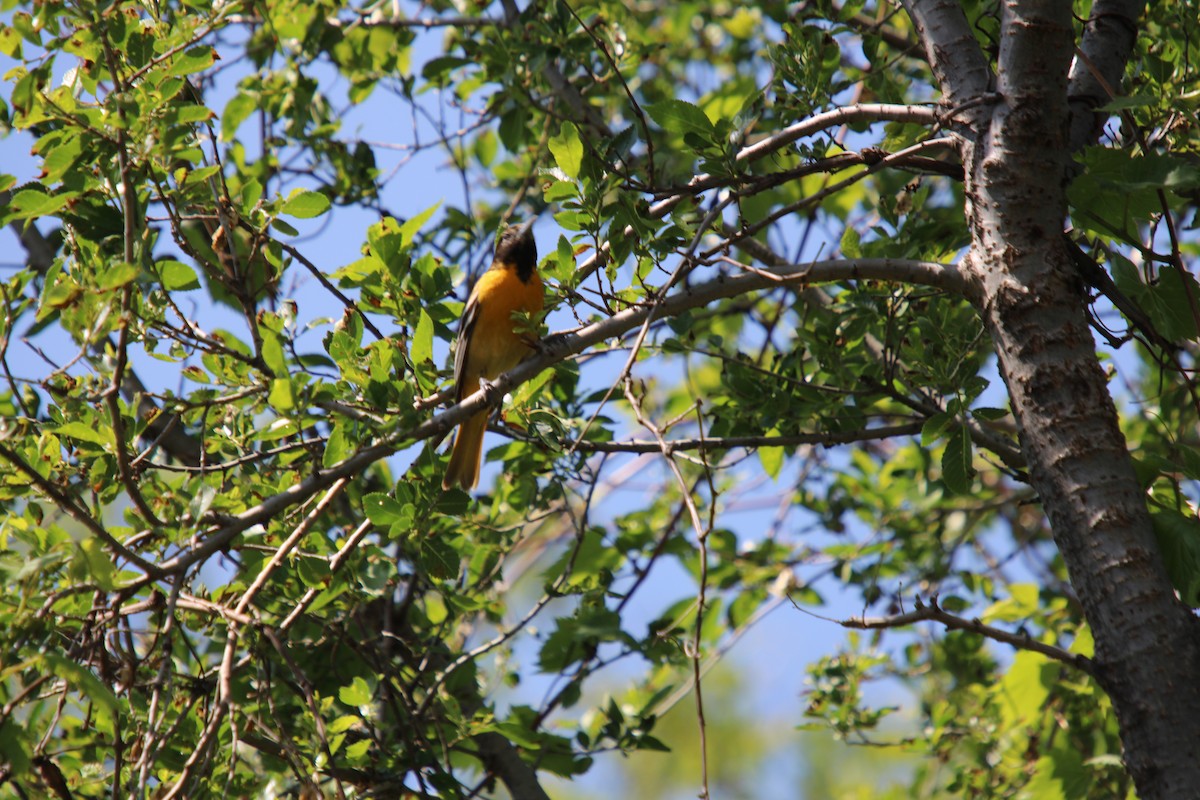
[[[512,330],[512,313],[535,314],[544,302],[533,221],[511,225],[500,234],[492,266],[472,290],[458,323],[458,349],[454,357],[456,402],[475,393],[480,380],[494,380],[529,354],[527,337]],[[443,488],[475,488],[490,414],[485,409],[458,426]]]

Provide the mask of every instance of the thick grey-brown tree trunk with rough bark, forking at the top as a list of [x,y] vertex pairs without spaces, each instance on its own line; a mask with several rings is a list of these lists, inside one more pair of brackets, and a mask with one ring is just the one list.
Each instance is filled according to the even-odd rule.
[[[938,12],[938,25],[918,26],[944,94],[961,104],[980,80],[978,70],[950,68],[972,62],[962,52],[971,31],[946,5],[906,4],[914,18]],[[1097,103],[1082,97],[1096,74],[1120,79],[1129,48],[1112,37],[1128,34],[1135,5],[1097,2],[1084,44],[1103,72],[1085,76],[1070,70],[1070,4],[1003,4],[996,94],[977,104],[985,113],[962,137],[972,231],[964,272],[977,284],[1033,486],[1096,638],[1126,764],[1145,800],[1190,800],[1200,787],[1200,625],[1163,567],[1062,237],[1070,154],[1084,122],[1086,140],[1097,132]],[[1075,125],[1068,76],[1086,110]]]

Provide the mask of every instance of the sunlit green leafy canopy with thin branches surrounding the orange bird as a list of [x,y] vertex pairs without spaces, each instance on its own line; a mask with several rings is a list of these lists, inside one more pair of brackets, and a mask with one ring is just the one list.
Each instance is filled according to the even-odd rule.
[[[767,614],[916,607],[941,624],[793,652],[794,724],[935,754],[902,796],[1129,790],[950,266],[961,166],[902,13],[2,8],[5,146],[38,172],[0,176],[25,253],[0,284],[0,782],[540,796],[666,750],[659,717],[702,709]],[[1151,13],[1072,222],[1194,339],[1159,254],[1196,251],[1166,225],[1200,188],[1200,36]],[[582,327],[506,385],[469,498],[440,489],[463,414],[436,396],[514,213],[542,216],[546,325]],[[1198,604],[1194,387],[1097,308]],[[864,699],[881,679],[907,727]],[[701,740],[721,708],[689,711]]]

